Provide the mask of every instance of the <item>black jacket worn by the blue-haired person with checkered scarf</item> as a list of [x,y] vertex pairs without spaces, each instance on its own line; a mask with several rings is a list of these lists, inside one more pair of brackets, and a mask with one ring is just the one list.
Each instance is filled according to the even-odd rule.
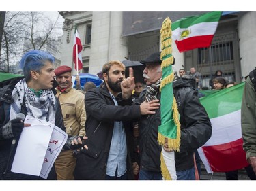
[[[14,89],[14,86],[22,79],[23,77],[16,77],[11,80],[5,80],[4,82],[1,82],[0,84],[0,131],[2,131],[2,126],[5,125],[9,121],[10,116],[10,104],[13,102],[12,99],[12,90]],[[61,128],[63,131],[66,132],[66,128],[63,124],[63,118],[61,113],[61,106],[59,104],[59,99],[56,97],[56,105],[55,105],[55,125]],[[25,108],[25,104],[21,107],[21,113],[27,115],[27,109]],[[38,139],[40,139],[40,135],[38,136]],[[3,171],[5,171],[6,166],[8,164],[8,158],[10,156],[10,162],[8,164],[8,170],[5,174],[5,179],[25,179],[25,180],[31,180],[31,179],[42,179],[42,177],[34,176],[34,175],[25,175],[20,173],[12,173],[10,171],[12,167],[12,162],[14,159],[14,155],[16,152],[16,147],[18,145],[18,139],[16,140],[16,144],[13,147],[12,154],[10,154],[11,151],[11,145],[12,145],[12,139],[3,139],[3,137],[0,136],[0,179],[3,179]],[[48,179],[56,179],[55,175],[55,168],[53,165],[53,168],[51,169],[51,172],[48,175]]]

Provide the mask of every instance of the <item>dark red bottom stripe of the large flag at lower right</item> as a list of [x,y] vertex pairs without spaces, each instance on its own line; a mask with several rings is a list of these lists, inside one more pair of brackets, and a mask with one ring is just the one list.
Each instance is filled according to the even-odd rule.
[[248,166],[242,138],[230,143],[202,147],[213,172],[227,172]]

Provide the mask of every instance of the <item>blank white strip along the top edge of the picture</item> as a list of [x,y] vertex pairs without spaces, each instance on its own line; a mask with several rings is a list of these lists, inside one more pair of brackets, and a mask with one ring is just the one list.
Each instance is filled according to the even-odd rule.
[[251,0],[244,1],[147,1],[129,0],[123,3],[115,1],[34,1],[34,0],[12,0],[3,1],[0,11],[253,11],[255,6]]

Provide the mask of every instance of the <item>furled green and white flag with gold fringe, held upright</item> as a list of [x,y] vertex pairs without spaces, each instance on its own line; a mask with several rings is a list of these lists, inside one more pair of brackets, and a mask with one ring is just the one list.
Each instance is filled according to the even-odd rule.
[[171,46],[171,20],[167,17],[162,22],[160,30],[161,35],[161,68],[162,81],[161,91],[161,125],[158,127],[158,143],[168,145],[172,152],[161,152],[161,171],[165,180],[177,179],[175,171],[174,151],[180,150],[180,114],[177,110],[177,103],[173,96],[173,79],[172,69],[173,55]]

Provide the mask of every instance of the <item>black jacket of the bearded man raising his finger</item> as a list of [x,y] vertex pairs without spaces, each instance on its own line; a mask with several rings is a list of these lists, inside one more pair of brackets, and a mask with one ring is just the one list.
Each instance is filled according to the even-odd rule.
[[139,105],[132,105],[132,98],[123,100],[117,97],[118,106],[106,86],[88,90],[85,94],[87,119],[85,132],[88,137],[85,144],[88,150],[81,150],[76,159],[75,179],[105,179],[106,162],[115,121],[122,121],[126,131],[128,156],[126,160],[128,179],[134,179],[132,173],[133,137],[132,120],[140,118]]

